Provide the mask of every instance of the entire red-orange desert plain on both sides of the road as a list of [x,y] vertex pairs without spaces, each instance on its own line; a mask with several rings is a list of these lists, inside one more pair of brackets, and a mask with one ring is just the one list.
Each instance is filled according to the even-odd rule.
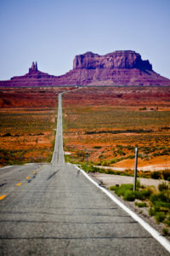
[[[73,88],[73,87],[72,87]],[[51,160],[57,99],[66,87],[0,90],[0,165]],[[63,96],[65,160],[139,169],[170,166],[168,87],[83,87]]]

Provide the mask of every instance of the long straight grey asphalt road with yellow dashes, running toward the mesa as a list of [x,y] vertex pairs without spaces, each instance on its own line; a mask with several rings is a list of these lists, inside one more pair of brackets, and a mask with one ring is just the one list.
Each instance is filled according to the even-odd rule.
[[65,164],[61,96],[51,164],[0,170],[0,255],[169,255],[82,172]]

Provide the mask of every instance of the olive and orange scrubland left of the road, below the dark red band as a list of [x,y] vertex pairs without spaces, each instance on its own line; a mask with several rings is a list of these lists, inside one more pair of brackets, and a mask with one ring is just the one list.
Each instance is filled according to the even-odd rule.
[[50,160],[56,110],[0,111],[0,165]]

